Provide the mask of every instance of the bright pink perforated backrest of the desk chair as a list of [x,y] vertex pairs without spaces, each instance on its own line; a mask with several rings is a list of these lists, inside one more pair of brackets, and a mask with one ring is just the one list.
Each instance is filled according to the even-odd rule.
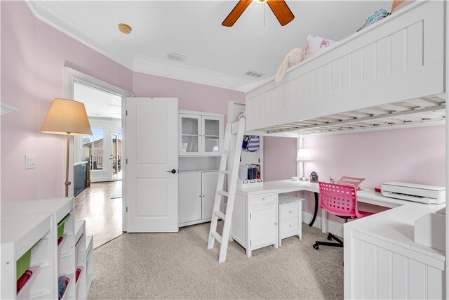
[[350,185],[319,182],[320,207],[336,216],[358,216],[356,188]]

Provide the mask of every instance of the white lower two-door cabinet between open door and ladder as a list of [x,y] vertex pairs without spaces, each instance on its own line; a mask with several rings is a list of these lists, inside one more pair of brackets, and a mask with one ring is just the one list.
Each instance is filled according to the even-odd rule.
[[210,221],[212,218],[217,171],[191,171],[179,174],[179,226]]

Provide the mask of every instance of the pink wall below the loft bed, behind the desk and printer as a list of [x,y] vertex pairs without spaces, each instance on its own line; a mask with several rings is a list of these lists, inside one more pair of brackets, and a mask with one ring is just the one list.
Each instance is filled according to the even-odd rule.
[[[306,174],[316,171],[322,181],[346,175],[366,178],[361,187],[371,189],[387,181],[445,186],[444,125],[310,136],[304,148],[311,152]],[[304,194],[304,211],[311,212],[313,195]]]

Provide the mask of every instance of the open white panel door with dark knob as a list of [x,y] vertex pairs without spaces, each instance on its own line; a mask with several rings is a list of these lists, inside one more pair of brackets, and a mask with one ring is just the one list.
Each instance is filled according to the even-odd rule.
[[177,232],[177,98],[127,98],[126,111],[128,232]]

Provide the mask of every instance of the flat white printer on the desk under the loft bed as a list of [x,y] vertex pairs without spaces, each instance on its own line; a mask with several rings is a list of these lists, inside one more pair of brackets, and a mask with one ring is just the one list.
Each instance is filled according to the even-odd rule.
[[426,204],[446,202],[446,189],[441,186],[403,182],[382,183],[382,196]]

